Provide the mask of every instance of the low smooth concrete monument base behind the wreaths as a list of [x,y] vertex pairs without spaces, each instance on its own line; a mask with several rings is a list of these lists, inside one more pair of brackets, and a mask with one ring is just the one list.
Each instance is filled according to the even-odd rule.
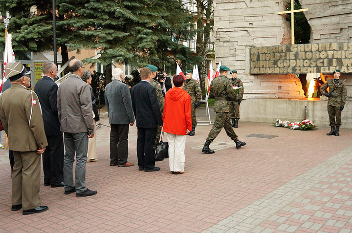
[[[274,123],[277,119],[291,122],[309,119],[317,127],[329,127],[327,100],[300,99],[245,99],[240,106],[241,121]],[[352,102],[347,101],[342,111],[341,128],[352,128]]]

